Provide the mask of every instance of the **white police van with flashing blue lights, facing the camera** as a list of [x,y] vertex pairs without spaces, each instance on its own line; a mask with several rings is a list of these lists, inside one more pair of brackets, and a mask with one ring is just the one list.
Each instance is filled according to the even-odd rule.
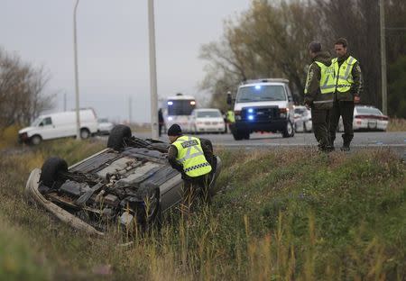
[[289,80],[266,78],[247,80],[238,87],[233,104],[235,123],[231,126],[235,141],[249,140],[254,131],[281,132],[283,138],[293,137],[293,97]]

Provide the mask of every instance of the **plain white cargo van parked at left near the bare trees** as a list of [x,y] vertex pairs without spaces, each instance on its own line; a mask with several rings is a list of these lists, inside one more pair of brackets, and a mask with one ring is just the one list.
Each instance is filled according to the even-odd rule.
[[[97,116],[93,109],[81,109],[80,138],[88,139],[97,133]],[[76,136],[76,112],[44,114],[35,119],[30,127],[18,131],[18,141],[40,144],[44,140],[53,140]]]

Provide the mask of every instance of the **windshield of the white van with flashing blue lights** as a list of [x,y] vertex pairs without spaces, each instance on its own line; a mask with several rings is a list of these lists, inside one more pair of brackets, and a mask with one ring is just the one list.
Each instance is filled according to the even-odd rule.
[[286,101],[285,89],[281,85],[242,86],[238,89],[237,103]]

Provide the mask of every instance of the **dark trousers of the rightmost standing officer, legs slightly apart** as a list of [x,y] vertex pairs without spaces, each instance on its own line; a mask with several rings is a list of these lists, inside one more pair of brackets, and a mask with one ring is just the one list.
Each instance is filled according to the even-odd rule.
[[334,101],[333,109],[330,115],[330,141],[333,145],[336,140],[336,131],[340,115],[343,116],[344,134],[342,135],[344,146],[348,147],[354,138],[353,120],[354,120],[354,102],[353,101]]

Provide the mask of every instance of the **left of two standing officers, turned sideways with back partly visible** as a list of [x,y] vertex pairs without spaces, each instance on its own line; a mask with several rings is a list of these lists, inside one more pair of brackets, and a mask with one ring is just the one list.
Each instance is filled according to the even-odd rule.
[[328,123],[336,90],[334,68],[329,53],[321,51],[319,42],[313,41],[309,44],[309,54],[313,62],[308,70],[304,103],[311,108],[311,122],[318,141],[318,150],[328,152],[332,150]]

